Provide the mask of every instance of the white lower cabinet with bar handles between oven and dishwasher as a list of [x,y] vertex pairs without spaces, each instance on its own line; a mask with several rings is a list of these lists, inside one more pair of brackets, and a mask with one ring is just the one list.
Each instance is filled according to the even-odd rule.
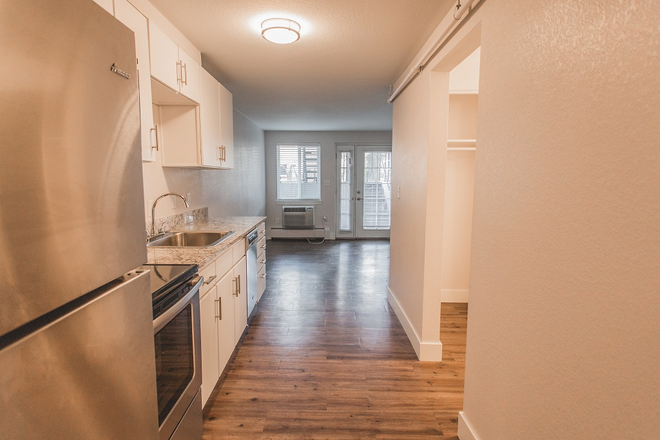
[[205,277],[200,299],[202,405],[205,405],[247,327],[244,240],[227,249],[200,270],[200,274]]

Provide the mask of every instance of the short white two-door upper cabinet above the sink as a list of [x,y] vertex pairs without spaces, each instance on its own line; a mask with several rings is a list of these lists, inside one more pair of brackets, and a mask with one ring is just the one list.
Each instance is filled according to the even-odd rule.
[[151,76],[176,92],[199,102],[200,65],[149,21]]

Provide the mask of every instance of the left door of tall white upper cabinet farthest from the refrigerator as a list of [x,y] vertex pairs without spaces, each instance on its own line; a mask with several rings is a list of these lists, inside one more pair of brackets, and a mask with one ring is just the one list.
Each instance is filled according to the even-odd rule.
[[201,69],[202,94],[199,102],[202,132],[202,165],[220,166],[220,108],[218,81]]

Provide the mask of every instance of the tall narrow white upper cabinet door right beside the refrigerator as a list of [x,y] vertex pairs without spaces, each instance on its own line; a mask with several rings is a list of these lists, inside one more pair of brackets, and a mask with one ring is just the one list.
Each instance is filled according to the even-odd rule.
[[149,26],[147,18],[127,0],[115,0],[115,16],[135,32],[137,54],[138,88],[140,89],[140,129],[142,160],[155,160],[155,127],[151,103],[151,67],[149,66]]

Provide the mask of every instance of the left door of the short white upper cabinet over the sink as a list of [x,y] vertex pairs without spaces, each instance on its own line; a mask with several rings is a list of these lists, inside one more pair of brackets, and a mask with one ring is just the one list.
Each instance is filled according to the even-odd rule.
[[179,90],[179,46],[149,21],[151,76],[173,90]]

